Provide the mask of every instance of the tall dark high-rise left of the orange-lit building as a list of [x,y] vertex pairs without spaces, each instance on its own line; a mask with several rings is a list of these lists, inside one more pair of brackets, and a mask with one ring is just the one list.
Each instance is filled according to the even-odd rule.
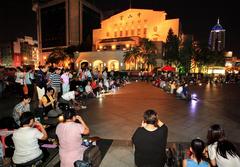
[[71,45],[92,50],[92,30],[100,27],[102,13],[91,1],[33,0],[32,8],[37,13],[40,52]]

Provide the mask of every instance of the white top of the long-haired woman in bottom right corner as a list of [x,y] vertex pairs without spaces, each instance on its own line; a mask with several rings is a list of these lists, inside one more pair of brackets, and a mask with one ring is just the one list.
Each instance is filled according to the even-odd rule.
[[216,159],[218,167],[240,167],[240,158],[232,157],[227,153],[227,158],[223,158],[217,153],[217,142],[208,146],[210,160]]

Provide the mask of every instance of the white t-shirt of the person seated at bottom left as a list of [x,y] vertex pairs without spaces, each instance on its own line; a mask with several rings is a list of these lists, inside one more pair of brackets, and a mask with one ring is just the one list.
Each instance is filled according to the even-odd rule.
[[43,137],[36,128],[22,127],[13,132],[13,143],[15,151],[13,154],[13,162],[22,164],[29,162],[42,154],[38,145],[38,139]]

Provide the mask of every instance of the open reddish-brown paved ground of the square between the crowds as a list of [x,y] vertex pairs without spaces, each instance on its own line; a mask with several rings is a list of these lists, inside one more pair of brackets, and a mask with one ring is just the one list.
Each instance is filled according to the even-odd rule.
[[[88,109],[81,115],[91,130],[91,136],[114,139],[101,166],[131,167],[133,151],[129,143],[142,121],[143,112],[154,109],[169,128],[169,142],[190,142],[195,137],[206,140],[208,127],[221,124],[227,137],[240,141],[240,88],[235,85],[207,85],[191,88],[199,101],[177,100],[159,88],[145,82],[132,82],[116,93],[100,99],[89,99]],[[12,112],[14,98],[0,100],[0,118]]]

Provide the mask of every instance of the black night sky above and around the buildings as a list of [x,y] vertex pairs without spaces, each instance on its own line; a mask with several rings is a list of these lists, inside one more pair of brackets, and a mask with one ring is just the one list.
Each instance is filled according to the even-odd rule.
[[[94,1],[94,0],[92,0]],[[130,0],[95,0],[103,11],[125,10]],[[132,0],[132,8],[164,10],[168,18],[180,18],[183,32],[207,43],[211,28],[220,17],[226,29],[226,49],[240,55],[239,5],[234,0]],[[0,42],[15,40],[24,35],[36,39],[36,15],[31,0],[0,1]]]

